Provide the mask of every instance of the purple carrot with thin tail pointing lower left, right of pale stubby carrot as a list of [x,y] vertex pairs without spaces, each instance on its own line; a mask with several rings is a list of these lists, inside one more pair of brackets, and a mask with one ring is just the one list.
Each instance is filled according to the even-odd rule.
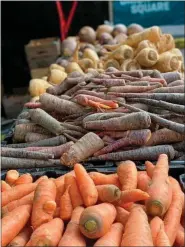
[[128,131],[127,136],[123,137],[110,145],[104,147],[94,154],[94,156],[99,156],[102,154],[110,153],[118,150],[121,147],[127,146],[143,146],[150,139],[151,132],[150,130],[135,130]]

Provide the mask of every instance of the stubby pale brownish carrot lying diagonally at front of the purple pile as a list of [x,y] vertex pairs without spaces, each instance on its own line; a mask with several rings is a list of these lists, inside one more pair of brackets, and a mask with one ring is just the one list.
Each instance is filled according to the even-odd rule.
[[104,143],[99,136],[89,132],[61,156],[61,163],[66,166],[73,166],[75,163],[90,157],[92,154],[103,148],[103,146]]

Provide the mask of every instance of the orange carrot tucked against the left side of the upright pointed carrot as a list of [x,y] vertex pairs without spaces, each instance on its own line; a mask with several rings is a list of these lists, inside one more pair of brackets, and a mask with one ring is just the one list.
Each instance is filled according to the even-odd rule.
[[65,185],[70,186],[69,195],[73,208],[83,205],[83,199],[81,197],[76,178],[71,174],[66,174],[65,176]]

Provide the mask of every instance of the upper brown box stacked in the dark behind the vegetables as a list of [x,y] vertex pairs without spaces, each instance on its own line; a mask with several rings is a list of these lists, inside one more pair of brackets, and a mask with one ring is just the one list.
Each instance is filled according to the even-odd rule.
[[46,38],[31,40],[25,46],[30,70],[49,67],[60,55],[60,39]]

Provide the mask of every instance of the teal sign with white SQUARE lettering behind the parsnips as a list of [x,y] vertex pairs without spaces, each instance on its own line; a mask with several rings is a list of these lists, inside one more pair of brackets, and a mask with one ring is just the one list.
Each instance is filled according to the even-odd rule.
[[112,1],[109,6],[110,21],[114,24],[157,25],[165,33],[184,37],[184,1]]

